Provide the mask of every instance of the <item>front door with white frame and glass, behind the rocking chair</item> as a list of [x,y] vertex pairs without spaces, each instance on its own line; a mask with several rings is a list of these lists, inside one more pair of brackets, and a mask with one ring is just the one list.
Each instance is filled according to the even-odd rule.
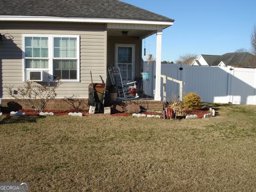
[[124,81],[134,81],[134,45],[116,44],[115,66]]

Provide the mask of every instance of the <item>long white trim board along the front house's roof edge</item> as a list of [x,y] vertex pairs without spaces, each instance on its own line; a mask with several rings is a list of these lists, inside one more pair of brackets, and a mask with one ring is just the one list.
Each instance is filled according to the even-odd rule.
[[34,17],[34,16],[12,16],[0,15],[0,21],[55,21],[55,22],[92,22],[92,23],[131,23],[148,25],[172,26],[172,21],[146,21],[132,19],[99,19],[99,18],[65,18],[65,17]]

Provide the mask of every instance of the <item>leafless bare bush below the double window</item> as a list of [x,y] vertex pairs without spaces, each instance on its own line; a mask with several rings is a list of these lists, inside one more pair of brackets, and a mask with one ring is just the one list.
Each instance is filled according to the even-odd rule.
[[25,85],[15,91],[12,86],[5,86],[9,95],[23,103],[24,105],[34,109],[35,111],[42,112],[47,102],[57,96],[56,89],[60,86],[60,81],[51,82],[48,78],[46,84],[41,85],[33,81],[25,82]]

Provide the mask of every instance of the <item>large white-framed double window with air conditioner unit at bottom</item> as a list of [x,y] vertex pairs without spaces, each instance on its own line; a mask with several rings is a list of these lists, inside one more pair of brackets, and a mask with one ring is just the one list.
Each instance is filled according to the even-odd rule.
[[79,36],[23,35],[23,80],[29,71],[42,71],[51,80],[79,81]]

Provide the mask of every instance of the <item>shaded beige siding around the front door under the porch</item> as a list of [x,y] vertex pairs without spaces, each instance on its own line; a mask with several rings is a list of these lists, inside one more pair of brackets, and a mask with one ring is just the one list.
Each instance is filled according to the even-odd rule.
[[141,40],[134,37],[108,37],[107,67],[115,66],[115,44],[133,44],[135,45],[135,78],[140,77],[142,72],[141,58]]

